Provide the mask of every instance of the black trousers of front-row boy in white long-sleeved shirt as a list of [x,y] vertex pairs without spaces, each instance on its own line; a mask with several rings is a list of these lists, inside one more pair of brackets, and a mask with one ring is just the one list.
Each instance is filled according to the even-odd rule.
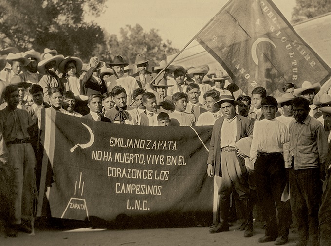
[[[284,219],[284,203],[280,201],[286,184],[286,170],[281,153],[259,155],[254,165],[257,197],[266,221],[265,235],[276,238],[289,234],[288,221]],[[276,206],[275,206],[276,203]],[[278,225],[276,217],[278,211]],[[286,210],[285,210],[286,211]]]

